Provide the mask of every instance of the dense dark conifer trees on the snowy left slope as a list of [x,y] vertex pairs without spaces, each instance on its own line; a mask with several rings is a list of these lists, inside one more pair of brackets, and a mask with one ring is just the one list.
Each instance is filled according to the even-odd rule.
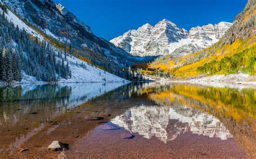
[[[60,60],[62,59],[62,60]],[[55,52],[45,41],[31,35],[0,14],[0,79],[10,83],[22,80],[22,71],[38,81],[56,82],[59,77],[70,78],[65,57],[56,59]]]

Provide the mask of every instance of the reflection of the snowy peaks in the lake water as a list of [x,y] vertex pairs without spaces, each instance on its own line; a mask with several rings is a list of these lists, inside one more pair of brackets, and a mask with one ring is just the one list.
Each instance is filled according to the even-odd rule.
[[232,138],[213,115],[184,106],[135,106],[111,122],[147,139],[156,136],[165,143],[188,131],[221,140]]

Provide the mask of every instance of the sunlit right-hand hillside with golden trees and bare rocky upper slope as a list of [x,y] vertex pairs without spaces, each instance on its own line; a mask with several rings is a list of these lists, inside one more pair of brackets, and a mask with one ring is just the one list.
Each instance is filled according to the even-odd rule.
[[256,74],[256,6],[248,1],[245,9],[220,41],[201,52],[183,56],[159,57],[150,68],[178,78],[199,75],[242,73]]

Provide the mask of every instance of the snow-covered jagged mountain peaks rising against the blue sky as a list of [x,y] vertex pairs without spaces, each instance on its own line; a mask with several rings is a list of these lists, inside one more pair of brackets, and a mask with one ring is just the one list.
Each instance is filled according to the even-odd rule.
[[130,30],[110,42],[136,56],[181,56],[198,52],[218,42],[231,25],[232,23],[220,22],[186,31],[163,19],[155,26],[145,24],[138,30]]

